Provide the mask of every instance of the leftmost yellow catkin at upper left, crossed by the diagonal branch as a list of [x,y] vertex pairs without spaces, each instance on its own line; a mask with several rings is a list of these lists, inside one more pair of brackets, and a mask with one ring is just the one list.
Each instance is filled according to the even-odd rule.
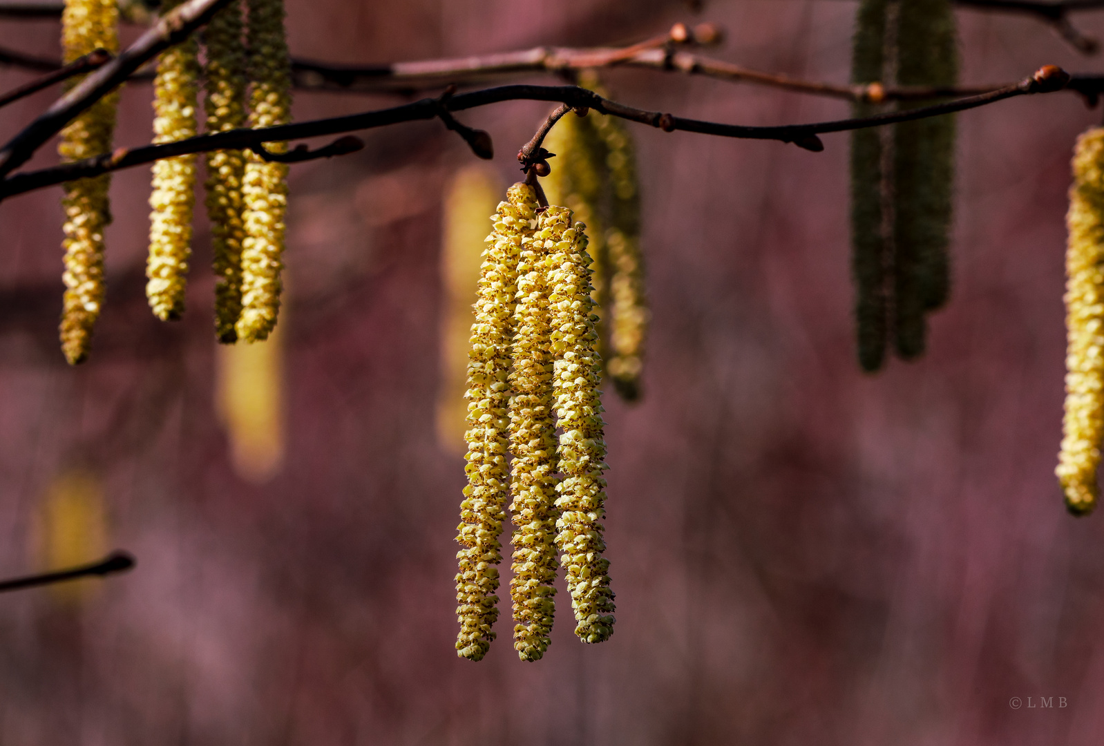
[[[62,50],[65,62],[97,47],[118,52],[118,9],[115,0],[67,0],[62,13]],[[72,82],[75,85],[76,81]],[[63,161],[91,158],[112,149],[118,92],[104,96],[62,130],[57,148]],[[84,362],[92,330],[104,303],[104,230],[112,222],[108,203],[110,175],[66,182],[65,296],[60,337],[71,365]]]

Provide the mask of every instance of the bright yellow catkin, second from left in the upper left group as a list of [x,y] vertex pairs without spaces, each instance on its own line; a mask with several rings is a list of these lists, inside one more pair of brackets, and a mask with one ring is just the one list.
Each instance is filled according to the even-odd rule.
[[[172,10],[180,1],[168,0],[161,8]],[[158,60],[153,79],[156,143],[195,137],[198,53],[199,44],[190,38],[162,52]],[[153,163],[146,298],[162,321],[179,320],[184,312],[194,204],[195,156],[177,156]]]

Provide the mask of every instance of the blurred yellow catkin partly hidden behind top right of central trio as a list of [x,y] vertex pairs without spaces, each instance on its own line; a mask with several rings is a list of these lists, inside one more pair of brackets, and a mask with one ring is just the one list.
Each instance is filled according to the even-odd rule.
[[[588,78],[588,87],[596,85],[593,78]],[[593,236],[590,254],[594,259],[594,311],[599,317],[599,351],[604,349],[608,337],[604,313],[609,300],[609,271],[603,230],[611,206],[609,169],[606,166],[608,150],[595,124],[603,118],[594,113],[585,117],[569,113],[561,118],[544,138],[544,148],[555,153],[555,158],[550,161],[551,173],[541,179],[541,188],[550,204],[570,207],[581,223],[590,226]]]

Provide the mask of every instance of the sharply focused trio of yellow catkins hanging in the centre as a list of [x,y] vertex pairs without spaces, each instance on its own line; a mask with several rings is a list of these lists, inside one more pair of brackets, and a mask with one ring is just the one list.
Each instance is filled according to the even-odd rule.
[[524,183],[510,188],[492,220],[468,364],[456,649],[480,660],[495,639],[498,537],[512,495],[514,649],[535,661],[552,629],[556,548],[575,635],[602,642],[613,633],[614,594],[602,556],[602,362],[585,226],[572,223],[566,207],[539,209]]

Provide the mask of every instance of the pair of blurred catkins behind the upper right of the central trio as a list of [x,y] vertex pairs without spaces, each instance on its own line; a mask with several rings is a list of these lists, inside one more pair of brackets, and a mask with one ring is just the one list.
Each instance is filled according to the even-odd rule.
[[[584,75],[580,84],[605,95],[593,75]],[[615,117],[567,115],[545,147],[556,154],[551,174],[542,181],[549,200],[570,207],[587,226],[604,372],[622,398],[635,401],[649,313],[633,139]]]

